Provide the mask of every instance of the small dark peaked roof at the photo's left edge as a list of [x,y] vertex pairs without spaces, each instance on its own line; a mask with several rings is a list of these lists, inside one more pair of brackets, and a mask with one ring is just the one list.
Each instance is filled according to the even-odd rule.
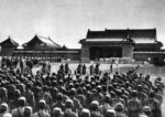
[[19,43],[10,39],[10,36],[4,40],[3,42],[0,43],[1,46],[7,45],[7,46],[19,46]]

